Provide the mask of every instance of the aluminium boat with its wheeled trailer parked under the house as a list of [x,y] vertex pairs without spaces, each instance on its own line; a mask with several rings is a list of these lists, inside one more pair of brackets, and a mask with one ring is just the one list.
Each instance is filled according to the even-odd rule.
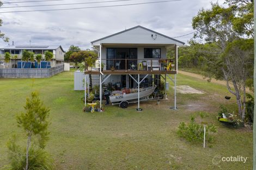
[[[154,92],[156,86],[151,86],[147,88],[139,89],[139,101],[149,100],[149,96]],[[155,99],[155,98],[153,98]],[[109,96],[109,100],[111,101],[112,105],[117,105],[121,108],[127,108],[129,103],[137,103],[138,102],[138,91],[133,93],[123,93],[119,95],[112,95]]]

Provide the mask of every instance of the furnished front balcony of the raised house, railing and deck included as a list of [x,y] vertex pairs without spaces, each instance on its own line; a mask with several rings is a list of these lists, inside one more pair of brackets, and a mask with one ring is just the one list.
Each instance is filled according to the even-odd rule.
[[[168,59],[102,59],[102,63],[103,74],[176,74],[174,61]],[[99,70],[85,73],[100,74]]]

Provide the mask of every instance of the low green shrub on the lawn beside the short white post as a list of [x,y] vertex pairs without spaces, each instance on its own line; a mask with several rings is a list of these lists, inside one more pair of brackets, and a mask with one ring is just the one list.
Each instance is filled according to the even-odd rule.
[[[191,117],[191,121],[187,124],[181,122],[178,128],[178,136],[189,142],[202,142],[204,139],[204,125],[197,123],[194,117]],[[216,132],[215,125],[206,125],[206,141],[212,142],[214,140],[212,134]]]

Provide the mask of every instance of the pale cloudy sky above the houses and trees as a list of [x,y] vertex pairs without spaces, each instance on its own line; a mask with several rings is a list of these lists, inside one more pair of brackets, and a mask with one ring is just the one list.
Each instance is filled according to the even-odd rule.
[[[26,0],[2,0],[2,2],[19,1]],[[156,2],[162,0],[126,0],[124,2],[105,2],[97,4],[19,7],[24,5],[99,1],[103,2],[109,0],[61,0],[12,3],[3,4],[0,11],[97,7],[104,5]],[[81,49],[87,49],[91,47],[91,41],[138,25],[170,37],[185,35],[194,31],[191,26],[192,17],[196,16],[200,9],[210,8],[211,2],[222,4],[224,0],[182,0],[123,7],[4,13],[0,14],[0,18],[3,20],[0,30],[10,38],[10,41],[0,41],[0,47],[7,46],[8,43],[11,44],[12,41],[14,41],[15,45],[29,45],[29,41],[31,41],[31,45],[61,45],[64,50],[68,50],[70,45],[78,46]],[[192,36],[193,34],[176,39],[187,43]]]

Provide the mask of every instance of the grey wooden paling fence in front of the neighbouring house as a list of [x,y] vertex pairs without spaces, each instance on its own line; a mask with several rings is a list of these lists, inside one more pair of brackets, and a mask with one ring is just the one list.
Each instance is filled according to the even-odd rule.
[[46,78],[63,71],[63,64],[52,68],[0,68],[0,78]]

